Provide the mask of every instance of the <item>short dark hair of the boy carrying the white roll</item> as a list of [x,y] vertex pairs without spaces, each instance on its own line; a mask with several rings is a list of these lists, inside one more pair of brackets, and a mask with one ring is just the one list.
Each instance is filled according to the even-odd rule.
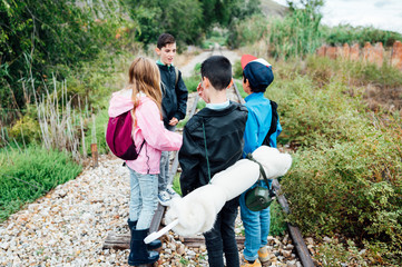
[[232,81],[232,65],[224,56],[212,56],[202,63],[202,77],[209,79],[216,90],[224,90]]

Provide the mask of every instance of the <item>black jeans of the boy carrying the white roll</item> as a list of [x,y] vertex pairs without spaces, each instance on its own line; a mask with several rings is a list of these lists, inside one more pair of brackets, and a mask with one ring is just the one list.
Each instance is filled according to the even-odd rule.
[[235,235],[235,220],[237,217],[238,198],[227,201],[216,217],[212,230],[204,233],[210,267],[238,267],[238,249]]

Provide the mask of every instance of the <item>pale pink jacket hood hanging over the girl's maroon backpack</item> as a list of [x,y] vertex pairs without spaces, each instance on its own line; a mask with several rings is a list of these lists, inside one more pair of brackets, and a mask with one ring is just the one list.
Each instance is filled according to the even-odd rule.
[[[111,95],[108,110],[109,117],[115,118],[134,108],[131,92],[131,89],[122,89]],[[145,93],[140,93],[139,101],[140,103],[147,101]]]

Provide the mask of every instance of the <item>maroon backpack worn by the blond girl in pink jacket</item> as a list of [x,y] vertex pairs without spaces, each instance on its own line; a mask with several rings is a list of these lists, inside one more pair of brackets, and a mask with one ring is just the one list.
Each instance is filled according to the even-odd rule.
[[108,128],[106,130],[106,142],[116,157],[124,160],[135,160],[138,158],[145,140],[137,152],[136,146],[133,141],[131,131],[131,110],[117,117],[109,118]]

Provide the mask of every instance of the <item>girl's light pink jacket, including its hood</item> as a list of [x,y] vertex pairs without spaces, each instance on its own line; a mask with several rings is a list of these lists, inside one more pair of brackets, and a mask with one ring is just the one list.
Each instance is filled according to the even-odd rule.
[[[116,117],[133,109],[131,89],[124,89],[112,93],[109,117]],[[145,93],[140,93],[139,105],[135,111],[136,127],[133,139],[137,151],[144,139],[145,144],[136,160],[126,160],[127,166],[139,174],[159,174],[160,152],[178,150],[183,137],[165,129],[160,112],[156,103]]]

